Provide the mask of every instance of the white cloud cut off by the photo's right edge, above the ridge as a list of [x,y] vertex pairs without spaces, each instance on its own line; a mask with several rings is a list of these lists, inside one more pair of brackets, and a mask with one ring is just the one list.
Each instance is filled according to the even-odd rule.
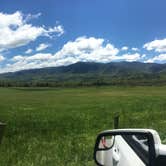
[[154,50],[156,52],[166,52],[166,39],[151,41],[144,44],[143,48],[148,51]]

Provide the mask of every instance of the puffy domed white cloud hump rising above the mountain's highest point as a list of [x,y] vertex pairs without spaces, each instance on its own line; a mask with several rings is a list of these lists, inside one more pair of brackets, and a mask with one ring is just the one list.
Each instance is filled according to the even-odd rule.
[[102,38],[79,37],[75,41],[67,42],[63,48],[55,54],[57,58],[75,57],[78,61],[110,61],[119,50],[112,44],[104,44]]

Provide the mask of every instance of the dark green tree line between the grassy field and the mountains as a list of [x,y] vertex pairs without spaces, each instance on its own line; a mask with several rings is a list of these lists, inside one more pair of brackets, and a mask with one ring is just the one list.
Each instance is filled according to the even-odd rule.
[[166,78],[162,77],[112,77],[77,80],[0,80],[0,87],[76,87],[76,86],[145,86],[166,85]]

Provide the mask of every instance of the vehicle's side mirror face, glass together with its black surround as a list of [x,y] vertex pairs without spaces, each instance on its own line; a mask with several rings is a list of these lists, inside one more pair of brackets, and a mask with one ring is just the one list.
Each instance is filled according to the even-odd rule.
[[154,166],[155,158],[151,130],[110,130],[96,139],[94,160],[99,166]]

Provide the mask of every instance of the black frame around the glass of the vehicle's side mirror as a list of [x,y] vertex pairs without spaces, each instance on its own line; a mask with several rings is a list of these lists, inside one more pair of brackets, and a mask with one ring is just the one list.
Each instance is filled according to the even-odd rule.
[[[95,161],[95,163],[98,166],[103,166],[100,163],[98,163],[97,159],[96,159],[96,152],[99,150],[98,149],[98,145],[99,142],[101,140],[102,137],[104,136],[109,136],[109,135],[132,135],[132,134],[142,134],[142,135],[146,135],[148,137],[148,144],[149,146],[149,152],[150,152],[150,157],[149,157],[149,165],[148,166],[155,166],[155,159],[156,159],[156,152],[155,152],[155,145],[154,145],[154,139],[153,139],[153,135],[150,131],[120,131],[120,130],[112,130],[112,131],[104,131],[101,132],[96,139],[96,143],[95,143],[95,147],[94,147],[94,153],[93,153],[93,159]],[[107,150],[107,149],[106,149]]]

